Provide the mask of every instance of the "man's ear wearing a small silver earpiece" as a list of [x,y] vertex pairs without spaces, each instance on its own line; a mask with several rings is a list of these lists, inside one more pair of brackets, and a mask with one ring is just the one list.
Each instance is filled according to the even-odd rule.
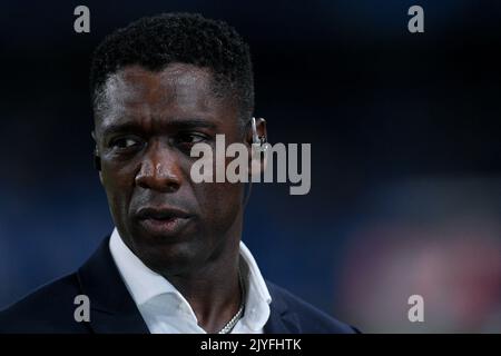
[[250,125],[247,127],[247,144],[250,147],[249,154],[249,177],[261,175],[266,169],[266,149],[267,149],[267,130],[266,120],[264,118],[250,119]]

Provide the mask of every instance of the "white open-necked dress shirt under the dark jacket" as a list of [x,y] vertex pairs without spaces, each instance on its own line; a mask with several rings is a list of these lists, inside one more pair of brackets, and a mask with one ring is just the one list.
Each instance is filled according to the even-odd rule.
[[[109,249],[151,334],[206,334],[185,297],[166,278],[149,269],[124,244],[116,228]],[[232,334],[262,334],[269,318],[272,297],[253,255],[242,241],[240,257],[248,269],[245,313]]]

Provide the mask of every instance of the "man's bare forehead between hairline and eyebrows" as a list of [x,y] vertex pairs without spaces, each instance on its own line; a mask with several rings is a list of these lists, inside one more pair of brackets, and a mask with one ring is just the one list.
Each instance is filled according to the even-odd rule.
[[223,113],[236,118],[233,100],[217,97],[212,80],[208,69],[193,65],[171,63],[160,71],[128,66],[106,82],[97,129],[129,119],[204,118],[218,122]]

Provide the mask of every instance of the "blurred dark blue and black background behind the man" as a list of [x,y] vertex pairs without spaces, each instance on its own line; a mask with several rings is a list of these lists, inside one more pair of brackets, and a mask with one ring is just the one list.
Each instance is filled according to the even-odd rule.
[[[73,31],[78,4],[90,33]],[[413,4],[424,33],[407,31]],[[243,239],[268,279],[367,332],[501,329],[501,2],[485,0],[2,1],[0,308],[111,231],[91,164],[90,55],[168,11],[233,24],[268,139],[312,144],[308,195],[253,189]],[[410,324],[412,294],[444,315]]]

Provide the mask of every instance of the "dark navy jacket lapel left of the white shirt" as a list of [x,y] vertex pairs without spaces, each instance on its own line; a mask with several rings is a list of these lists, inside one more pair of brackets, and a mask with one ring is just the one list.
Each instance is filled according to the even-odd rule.
[[78,270],[78,279],[90,300],[89,326],[95,333],[149,333],[109,251],[109,237]]

